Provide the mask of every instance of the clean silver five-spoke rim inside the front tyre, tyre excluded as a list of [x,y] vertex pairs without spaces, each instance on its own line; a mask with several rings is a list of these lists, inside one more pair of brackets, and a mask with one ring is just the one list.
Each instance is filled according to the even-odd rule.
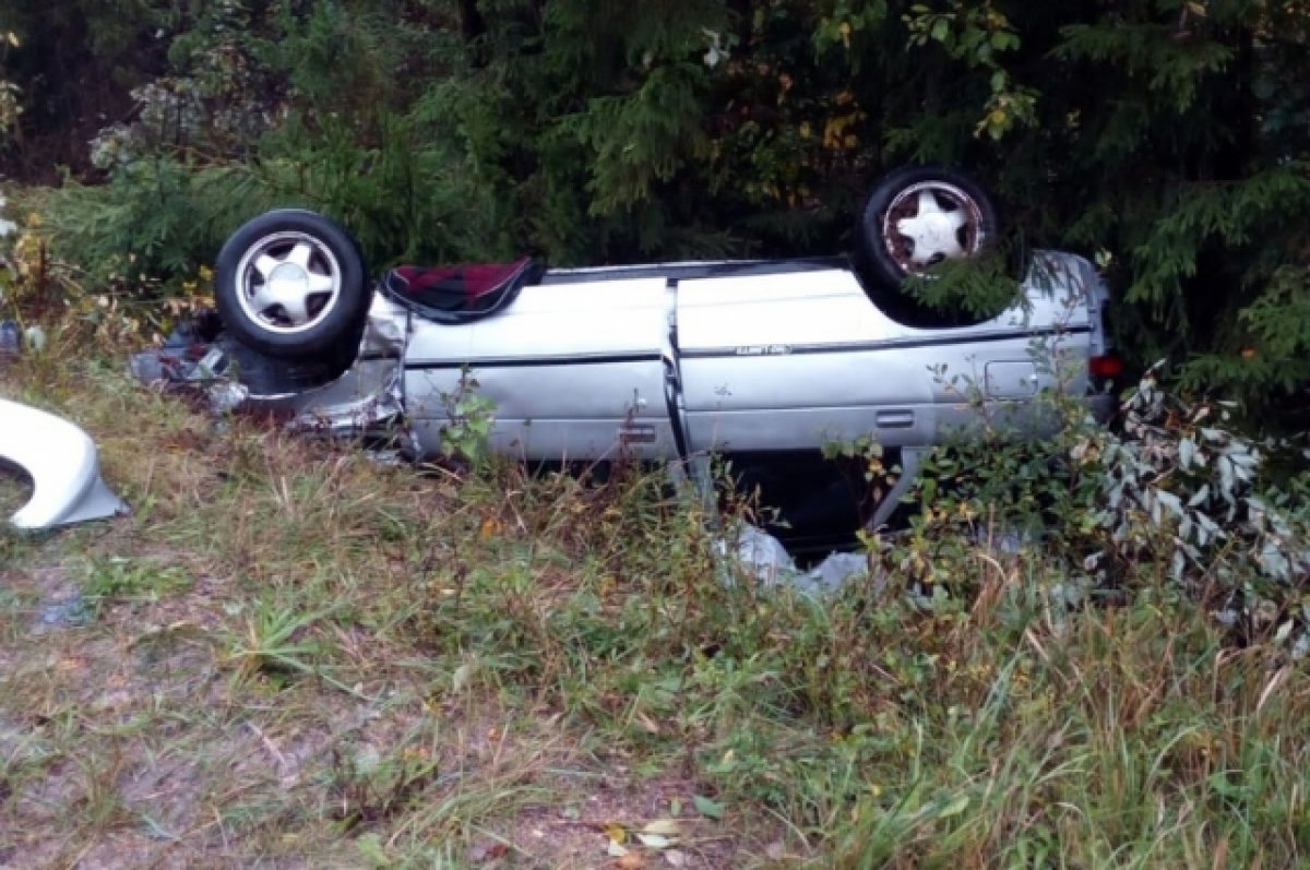
[[337,255],[309,233],[279,232],[250,245],[237,265],[237,301],[250,324],[291,335],[312,329],[341,301]]

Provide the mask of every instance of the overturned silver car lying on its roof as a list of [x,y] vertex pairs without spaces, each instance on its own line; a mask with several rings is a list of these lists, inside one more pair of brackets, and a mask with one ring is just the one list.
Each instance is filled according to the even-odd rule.
[[994,232],[972,182],[916,168],[872,193],[854,258],[524,258],[400,267],[375,284],[343,228],[279,210],[229,238],[216,297],[248,402],[337,430],[402,415],[421,455],[443,451],[455,397],[476,389],[494,409],[491,447],[527,460],[815,453],[871,436],[900,452],[908,481],[922,449],[1043,390],[1112,409],[1108,296],[1086,259],[1034,255],[1014,304],[980,322],[914,325],[886,304],[907,275]]

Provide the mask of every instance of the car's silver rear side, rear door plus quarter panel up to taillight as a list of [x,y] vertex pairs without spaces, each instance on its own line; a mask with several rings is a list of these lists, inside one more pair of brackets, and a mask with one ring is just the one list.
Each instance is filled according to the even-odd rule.
[[688,443],[779,451],[871,435],[918,447],[984,419],[1030,425],[1041,390],[1086,389],[1087,270],[1061,266],[993,318],[929,329],[888,317],[842,267],[679,282]]

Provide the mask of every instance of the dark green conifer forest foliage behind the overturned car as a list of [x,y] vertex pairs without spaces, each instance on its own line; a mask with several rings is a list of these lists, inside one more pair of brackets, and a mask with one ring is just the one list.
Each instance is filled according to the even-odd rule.
[[[1303,3],[0,0],[0,25],[10,174],[113,181],[66,199],[107,215],[206,190],[132,246],[161,273],[265,202],[379,266],[838,253],[882,173],[933,161],[996,193],[1011,271],[1096,257],[1138,362],[1251,409],[1310,381]],[[69,255],[119,245],[106,221],[63,220]]]

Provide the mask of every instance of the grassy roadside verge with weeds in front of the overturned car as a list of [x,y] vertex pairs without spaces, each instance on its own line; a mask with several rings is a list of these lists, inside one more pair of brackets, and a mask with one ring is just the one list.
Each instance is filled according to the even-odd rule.
[[419,476],[69,355],[0,394],[134,515],[0,531],[0,866],[1310,862],[1305,662],[1180,595],[726,584],[652,480]]

